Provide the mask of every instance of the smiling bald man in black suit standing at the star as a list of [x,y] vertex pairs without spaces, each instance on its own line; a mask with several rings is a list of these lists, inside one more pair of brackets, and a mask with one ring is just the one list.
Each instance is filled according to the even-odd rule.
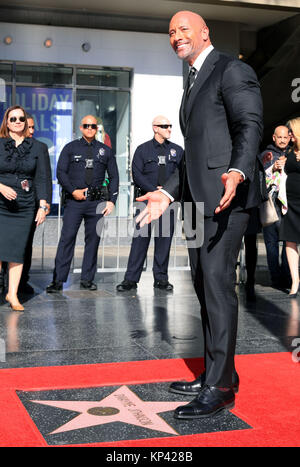
[[201,16],[176,13],[169,36],[190,66],[180,109],[185,157],[162,190],[139,198],[148,204],[138,221],[151,222],[157,206],[163,212],[173,199],[192,202],[195,213],[204,203],[203,244],[192,245],[189,255],[201,305],[205,372],[170,386],[171,392],[196,396],[175,411],[176,418],[193,419],[232,408],[239,387],[235,267],[249,210],[261,202],[262,101],[252,68],[214,49]]

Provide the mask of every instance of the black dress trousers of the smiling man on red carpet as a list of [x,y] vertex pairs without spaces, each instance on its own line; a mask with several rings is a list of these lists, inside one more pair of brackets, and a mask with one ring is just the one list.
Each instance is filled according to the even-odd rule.
[[188,249],[194,287],[201,305],[205,382],[210,386],[230,387],[235,372],[236,264],[248,222],[248,211],[230,208],[205,217],[202,246]]

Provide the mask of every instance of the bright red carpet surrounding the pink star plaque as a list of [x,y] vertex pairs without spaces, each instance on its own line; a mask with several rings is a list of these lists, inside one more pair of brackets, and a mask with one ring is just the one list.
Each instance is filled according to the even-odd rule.
[[[198,365],[198,359],[178,359],[0,370],[0,446],[48,446],[16,391],[192,380]],[[241,386],[232,413],[252,429],[93,446],[300,446],[299,364],[290,353],[272,353],[237,356],[236,366]]]

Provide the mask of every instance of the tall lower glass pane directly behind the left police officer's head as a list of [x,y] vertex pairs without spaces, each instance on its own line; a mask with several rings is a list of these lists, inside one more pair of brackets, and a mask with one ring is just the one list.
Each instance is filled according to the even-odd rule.
[[120,192],[116,215],[129,213],[130,170],[129,170],[129,102],[126,91],[97,91],[78,89],[74,114],[75,134],[81,136],[80,122],[85,115],[98,119],[96,138],[110,146],[116,154],[120,176]]

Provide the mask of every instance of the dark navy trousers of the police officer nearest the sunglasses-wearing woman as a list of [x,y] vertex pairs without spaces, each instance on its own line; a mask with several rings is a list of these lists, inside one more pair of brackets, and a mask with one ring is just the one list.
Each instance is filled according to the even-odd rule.
[[[92,281],[97,269],[97,253],[100,236],[97,233],[97,222],[102,214],[96,214],[96,209],[100,201],[75,201],[67,200],[63,227],[55,258],[55,270],[53,279],[66,282],[70,271],[71,262],[74,256],[76,236],[82,220],[85,227],[85,246],[82,261],[81,280]],[[103,208],[105,203],[103,203]],[[102,208],[102,209],[103,209]],[[102,210],[101,209],[101,210]],[[98,225],[99,227],[99,225]]]

